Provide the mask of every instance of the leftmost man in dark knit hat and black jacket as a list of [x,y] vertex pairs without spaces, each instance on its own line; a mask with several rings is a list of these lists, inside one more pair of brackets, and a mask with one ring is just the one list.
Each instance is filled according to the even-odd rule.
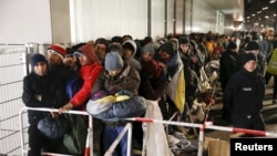
[[[68,102],[62,82],[49,73],[48,61],[44,55],[35,53],[30,60],[32,72],[23,79],[22,101],[28,107],[59,108]],[[41,150],[58,152],[61,139],[44,136],[38,129],[38,122],[47,116],[58,117],[57,113],[28,111],[29,152],[28,156],[40,156]]]

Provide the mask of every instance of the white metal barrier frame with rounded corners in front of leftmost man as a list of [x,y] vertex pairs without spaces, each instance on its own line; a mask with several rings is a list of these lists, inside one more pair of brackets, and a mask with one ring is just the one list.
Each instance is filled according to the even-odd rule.
[[[41,111],[41,112],[59,112],[57,108],[34,108],[34,107],[23,107],[19,112],[19,123],[20,123],[20,138],[21,138],[21,154],[24,156],[24,154],[28,153],[27,149],[24,149],[24,135],[23,135],[23,121],[22,121],[22,113],[31,110],[31,111]],[[65,112],[68,114],[76,114],[76,115],[89,115],[86,112],[83,111],[69,111]],[[85,142],[85,149],[84,149],[84,156],[90,156],[90,154],[93,154],[93,119],[92,116],[89,115],[89,127],[88,127],[88,136],[86,136],[86,142]],[[53,153],[42,153],[42,155],[48,155],[48,156],[68,156],[63,154],[53,154]]]

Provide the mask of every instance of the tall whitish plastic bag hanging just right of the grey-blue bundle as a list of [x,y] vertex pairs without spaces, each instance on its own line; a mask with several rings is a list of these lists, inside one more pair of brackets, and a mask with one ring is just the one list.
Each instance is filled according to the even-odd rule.
[[[161,110],[156,101],[146,100],[146,118],[163,119]],[[143,123],[146,125],[144,129],[144,149],[146,156],[172,156],[168,147],[166,134],[163,124]]]

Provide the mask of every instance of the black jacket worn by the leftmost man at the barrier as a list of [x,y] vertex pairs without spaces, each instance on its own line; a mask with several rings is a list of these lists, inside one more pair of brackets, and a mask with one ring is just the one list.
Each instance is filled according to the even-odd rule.
[[[38,101],[35,95],[41,95],[41,101]],[[59,108],[68,102],[68,96],[63,82],[55,75],[40,76],[32,72],[23,79],[22,101],[28,107]],[[49,112],[29,111],[29,122],[37,124],[48,114]]]

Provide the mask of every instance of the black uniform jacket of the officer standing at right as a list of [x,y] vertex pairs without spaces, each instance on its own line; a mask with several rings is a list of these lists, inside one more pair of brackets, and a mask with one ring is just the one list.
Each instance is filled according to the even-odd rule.
[[243,67],[229,79],[223,102],[233,116],[258,115],[263,108],[265,86],[263,75],[249,73]]

